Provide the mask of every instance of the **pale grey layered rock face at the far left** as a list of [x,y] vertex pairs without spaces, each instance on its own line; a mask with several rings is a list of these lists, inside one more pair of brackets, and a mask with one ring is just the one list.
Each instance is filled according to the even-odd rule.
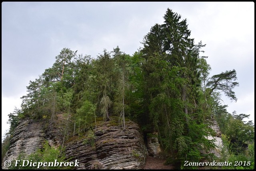
[[[58,147],[62,143],[63,128],[65,120],[61,114],[58,114],[55,123],[49,126],[47,120],[40,122],[32,119],[21,120],[15,129],[10,147],[3,158],[3,161],[13,161],[18,159],[19,155],[30,155],[43,147],[47,140],[51,147]],[[6,169],[2,164],[2,169]]]

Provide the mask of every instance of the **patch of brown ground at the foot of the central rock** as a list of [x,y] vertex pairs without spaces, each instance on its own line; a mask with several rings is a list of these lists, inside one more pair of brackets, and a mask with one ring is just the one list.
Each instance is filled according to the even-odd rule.
[[172,165],[164,165],[165,159],[158,159],[147,156],[144,169],[174,169]]

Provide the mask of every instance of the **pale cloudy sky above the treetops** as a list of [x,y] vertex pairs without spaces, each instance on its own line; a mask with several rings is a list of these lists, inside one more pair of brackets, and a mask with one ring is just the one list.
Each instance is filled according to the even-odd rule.
[[167,8],[187,19],[196,44],[206,44],[210,77],[236,70],[238,100],[222,96],[223,104],[254,122],[254,2],[2,2],[2,137],[29,81],[63,48],[96,58],[119,46],[133,55]]

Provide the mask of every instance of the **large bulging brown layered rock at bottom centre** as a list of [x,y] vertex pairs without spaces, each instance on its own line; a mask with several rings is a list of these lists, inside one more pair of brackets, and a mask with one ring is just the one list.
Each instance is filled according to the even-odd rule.
[[78,159],[77,169],[144,169],[147,151],[138,124],[126,122],[126,130],[122,130],[109,126],[110,122],[68,143],[66,157]]

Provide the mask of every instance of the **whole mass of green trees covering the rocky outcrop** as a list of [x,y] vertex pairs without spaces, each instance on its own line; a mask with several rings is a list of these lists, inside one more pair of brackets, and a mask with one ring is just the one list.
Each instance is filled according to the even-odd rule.
[[[222,159],[254,156],[250,145],[254,144],[254,125],[242,121],[248,115],[228,114],[227,106],[220,103],[220,92],[237,100],[233,91],[238,86],[236,71],[209,78],[211,67],[202,56],[205,45],[194,43],[186,22],[168,8],[164,24],[152,26],[143,47],[133,55],[117,46],[112,52],[104,49],[94,59],[63,48],[52,67],[30,81],[21,109],[9,115],[8,135],[22,118],[43,118],[53,128],[57,114],[62,114],[66,118],[62,147],[72,140],[70,136],[81,138],[85,133],[84,143],[94,146],[94,123],[96,127],[111,116],[114,119],[106,126],[121,124],[125,129],[126,117],[138,122],[145,135],[158,132],[167,163],[182,165],[185,160],[213,159],[214,142],[206,138],[213,132],[206,119],[215,118],[224,134]],[[250,151],[244,149],[246,144]],[[50,151],[31,157],[47,160],[57,153]]]

